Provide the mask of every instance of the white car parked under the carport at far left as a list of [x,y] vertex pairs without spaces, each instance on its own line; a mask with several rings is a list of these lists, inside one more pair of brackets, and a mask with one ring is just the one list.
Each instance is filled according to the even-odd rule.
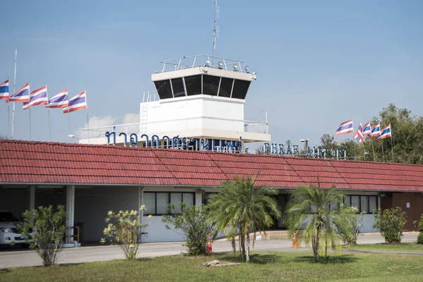
[[0,211],[0,245],[22,244],[27,247],[25,236],[16,228],[20,224],[22,222],[11,212]]

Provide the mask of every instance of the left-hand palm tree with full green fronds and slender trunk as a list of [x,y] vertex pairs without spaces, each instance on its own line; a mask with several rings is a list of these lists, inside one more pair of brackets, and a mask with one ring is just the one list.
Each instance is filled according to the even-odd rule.
[[[240,250],[246,262],[250,261],[250,231],[263,231],[266,235],[265,229],[274,223],[272,216],[278,218],[280,213],[272,197],[278,191],[266,186],[255,188],[256,179],[257,176],[254,179],[234,176],[233,180],[222,181],[221,191],[210,196],[217,228],[225,232],[228,226],[234,226],[238,230]],[[254,240],[255,236],[253,247]]]

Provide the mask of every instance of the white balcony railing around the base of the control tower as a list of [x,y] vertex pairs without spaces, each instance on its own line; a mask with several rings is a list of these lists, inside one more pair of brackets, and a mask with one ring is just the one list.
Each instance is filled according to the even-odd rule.
[[231,132],[245,133],[268,133],[267,124],[257,121],[242,121],[228,118],[212,118],[202,116],[197,118],[180,118],[170,121],[154,121],[147,123],[144,132],[141,132],[141,123],[130,123],[121,125],[109,125],[99,128],[82,128],[80,130],[80,139],[105,137],[106,132],[115,132],[116,136],[120,133],[148,134],[148,133],[166,133],[181,130],[224,130]]

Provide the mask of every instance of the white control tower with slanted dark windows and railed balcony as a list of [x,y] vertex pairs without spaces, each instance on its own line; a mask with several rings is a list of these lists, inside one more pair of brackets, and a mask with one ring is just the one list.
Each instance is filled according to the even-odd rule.
[[[140,123],[82,129],[80,143],[109,144],[105,134],[112,131],[115,145],[128,142],[119,134],[135,133],[138,147],[169,147],[164,137],[172,136],[216,144],[270,141],[267,123],[244,119],[245,97],[256,74],[243,61],[196,55],[161,63],[161,71],[152,74],[156,92],[145,92],[140,103]],[[159,144],[152,143],[153,135]]]

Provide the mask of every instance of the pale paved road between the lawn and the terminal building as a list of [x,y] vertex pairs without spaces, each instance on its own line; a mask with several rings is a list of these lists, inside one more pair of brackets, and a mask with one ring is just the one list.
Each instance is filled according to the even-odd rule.
[[[407,233],[403,237],[403,242],[415,242],[418,233]],[[380,235],[362,235],[358,238],[359,244],[383,243],[384,239]],[[309,251],[309,248],[293,249],[290,240],[260,240],[256,241],[256,251]],[[231,251],[231,244],[226,241],[213,243],[214,252]],[[183,243],[149,243],[140,245],[138,257],[161,257],[165,255],[179,255],[185,252]],[[59,264],[75,264],[81,262],[98,262],[113,259],[123,259],[123,252],[118,246],[96,246],[64,249],[59,255]],[[0,252],[0,269],[39,266],[42,260],[35,251],[20,252]]]

